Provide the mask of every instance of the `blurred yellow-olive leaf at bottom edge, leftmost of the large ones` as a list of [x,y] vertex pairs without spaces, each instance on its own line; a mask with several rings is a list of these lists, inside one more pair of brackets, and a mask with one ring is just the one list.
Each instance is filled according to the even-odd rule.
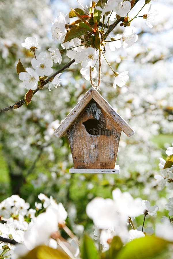
[[31,250],[22,259],[69,259],[69,256],[58,249],[53,249],[45,245],[38,246]]

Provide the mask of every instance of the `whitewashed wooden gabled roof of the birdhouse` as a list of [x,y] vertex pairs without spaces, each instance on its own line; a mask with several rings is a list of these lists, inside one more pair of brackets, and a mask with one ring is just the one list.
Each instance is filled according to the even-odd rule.
[[128,125],[126,121],[121,118],[121,116],[114,111],[112,106],[98,93],[98,91],[91,87],[83,98],[76,104],[69,115],[62,121],[59,127],[55,130],[55,135],[61,138],[65,135],[66,130],[75,122],[77,117],[81,115],[82,111],[88,105],[91,100],[94,100],[116,123],[116,125],[128,136],[130,137],[134,134],[134,130]]

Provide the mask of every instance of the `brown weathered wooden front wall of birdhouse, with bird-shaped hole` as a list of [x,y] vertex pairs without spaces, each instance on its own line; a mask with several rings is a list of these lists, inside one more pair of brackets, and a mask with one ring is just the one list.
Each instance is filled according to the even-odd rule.
[[66,134],[74,168],[115,167],[121,129],[95,100],[91,99]]

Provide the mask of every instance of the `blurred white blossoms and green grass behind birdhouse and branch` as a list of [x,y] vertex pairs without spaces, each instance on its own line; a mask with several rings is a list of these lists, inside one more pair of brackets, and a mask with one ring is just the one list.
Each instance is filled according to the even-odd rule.
[[[130,17],[143,2],[136,4]],[[89,5],[88,1],[81,3]],[[39,39],[37,53],[60,47],[51,38],[51,21],[58,12],[69,12],[69,7],[80,6],[74,0],[1,0],[0,109],[23,99],[26,93],[16,64],[20,58],[25,67],[31,67],[33,53],[21,43],[35,36]],[[141,14],[146,14],[148,8]],[[160,217],[168,215],[164,205],[172,197],[172,188],[161,190],[154,175],[159,174],[159,157],[166,158],[165,150],[173,142],[173,2],[152,1],[152,8],[158,11],[153,29],[137,18],[131,25],[137,28],[138,41],[132,47],[115,52],[106,48],[113,69],[119,73],[129,71],[126,86],[113,88],[112,72],[102,60],[100,93],[136,132],[130,138],[121,134],[117,156],[120,174],[69,174],[73,161],[68,139],[56,138],[54,130],[91,86],[80,74],[80,65],[72,65],[62,73],[61,87],[49,92],[46,86],[28,107],[24,104],[1,113],[0,201],[19,194],[34,206],[39,193],[52,195],[63,203],[69,224],[78,235],[83,226],[90,228],[85,213],[88,202],[96,196],[112,197],[116,187],[158,205]],[[117,26],[113,33],[122,33],[123,29]],[[64,54],[61,65],[54,64],[54,71],[67,62],[69,58]]]

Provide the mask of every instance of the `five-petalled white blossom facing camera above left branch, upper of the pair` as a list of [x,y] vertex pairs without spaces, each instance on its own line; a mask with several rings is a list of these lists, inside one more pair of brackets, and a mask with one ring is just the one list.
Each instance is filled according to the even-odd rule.
[[41,77],[44,75],[49,76],[53,73],[53,61],[51,58],[47,58],[45,53],[40,53],[37,59],[33,58],[31,64],[35,68],[36,73]]

